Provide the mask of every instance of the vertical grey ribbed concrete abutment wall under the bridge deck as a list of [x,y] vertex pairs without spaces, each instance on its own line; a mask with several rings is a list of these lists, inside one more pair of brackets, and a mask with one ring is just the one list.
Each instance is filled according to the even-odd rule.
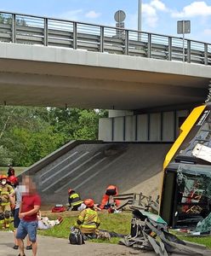
[[106,142],[174,142],[188,114],[188,110],[179,110],[100,119],[99,139]]

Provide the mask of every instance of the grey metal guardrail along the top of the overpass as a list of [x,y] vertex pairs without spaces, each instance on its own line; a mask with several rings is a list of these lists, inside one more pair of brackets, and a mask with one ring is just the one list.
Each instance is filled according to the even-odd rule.
[[[3,11],[0,41],[183,61],[182,38]],[[185,62],[211,65],[211,44],[185,39]]]

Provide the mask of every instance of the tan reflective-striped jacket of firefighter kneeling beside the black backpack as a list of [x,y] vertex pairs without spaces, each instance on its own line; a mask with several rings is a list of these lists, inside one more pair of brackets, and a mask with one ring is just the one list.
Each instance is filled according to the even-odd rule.
[[84,234],[96,233],[97,228],[100,226],[100,218],[98,213],[93,208],[84,209],[77,218],[75,224]]

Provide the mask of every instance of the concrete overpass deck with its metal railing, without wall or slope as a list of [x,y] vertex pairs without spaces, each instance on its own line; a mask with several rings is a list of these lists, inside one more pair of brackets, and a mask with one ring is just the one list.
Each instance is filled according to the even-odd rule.
[[207,95],[211,44],[185,39],[183,62],[182,38],[0,14],[1,104],[140,110]]

